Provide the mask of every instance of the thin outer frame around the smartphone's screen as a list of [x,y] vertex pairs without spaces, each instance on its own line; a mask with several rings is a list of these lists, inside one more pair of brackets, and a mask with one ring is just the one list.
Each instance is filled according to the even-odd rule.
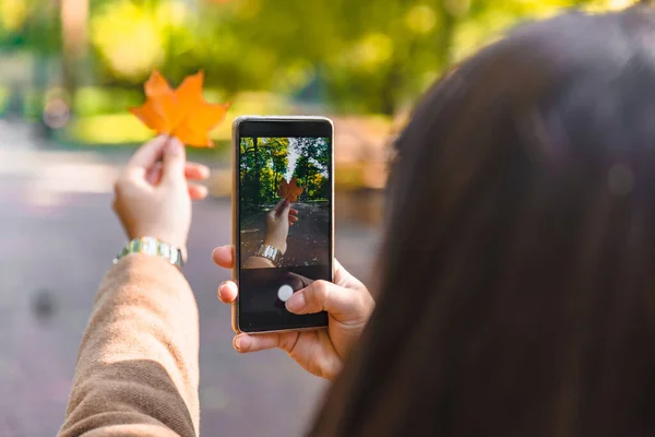
[[[239,284],[240,277],[240,234],[239,234],[239,143],[241,137],[324,137],[330,139],[330,181],[331,181],[331,211],[330,211],[330,270],[334,279],[334,125],[326,117],[286,117],[286,116],[242,116],[233,123],[233,244],[235,246],[235,265],[233,281]],[[267,324],[265,328],[242,326],[240,322],[239,298],[233,303],[231,324],[235,332],[263,333],[314,330],[327,324],[327,316],[323,315],[318,322],[286,323],[279,326]],[[274,323],[273,323],[274,324]]]

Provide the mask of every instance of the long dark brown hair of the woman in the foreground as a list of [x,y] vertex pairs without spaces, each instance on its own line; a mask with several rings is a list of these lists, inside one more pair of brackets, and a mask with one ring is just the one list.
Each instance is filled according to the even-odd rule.
[[311,435],[655,432],[655,12],[526,25],[398,143],[380,297]]

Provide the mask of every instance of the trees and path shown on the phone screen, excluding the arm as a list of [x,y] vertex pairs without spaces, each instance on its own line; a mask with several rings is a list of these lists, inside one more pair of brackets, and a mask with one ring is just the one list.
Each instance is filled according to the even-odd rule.
[[[239,160],[240,249],[243,268],[288,211],[281,265],[327,264],[331,153],[326,138],[242,138]],[[289,204],[285,205],[285,201]],[[283,232],[284,233],[284,232]],[[277,246],[283,246],[278,243]]]

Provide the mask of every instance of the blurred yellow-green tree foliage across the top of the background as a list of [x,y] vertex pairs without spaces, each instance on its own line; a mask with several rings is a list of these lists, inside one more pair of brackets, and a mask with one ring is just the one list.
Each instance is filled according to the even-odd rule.
[[[503,31],[569,7],[635,0],[88,0],[95,76],[135,87],[198,70],[226,98],[266,90],[393,115]],[[0,0],[0,43],[60,49],[58,1]]]

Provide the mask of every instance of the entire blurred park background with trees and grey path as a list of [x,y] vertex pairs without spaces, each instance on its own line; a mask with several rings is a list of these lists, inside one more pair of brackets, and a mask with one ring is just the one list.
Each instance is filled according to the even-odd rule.
[[[368,280],[390,144],[450,66],[519,23],[628,0],[0,0],[0,436],[52,436],[98,282],[124,243],[111,185],[152,133],[128,113],[158,69],[204,70],[231,102],[191,150],[213,168],[194,208],[186,269],[201,310],[203,434],[288,436],[321,381],[283,353],[237,356],[228,272],[230,123],[243,114],[321,114],[336,125],[336,255]],[[511,74],[508,71],[508,74]],[[448,132],[444,132],[448,134]]]

